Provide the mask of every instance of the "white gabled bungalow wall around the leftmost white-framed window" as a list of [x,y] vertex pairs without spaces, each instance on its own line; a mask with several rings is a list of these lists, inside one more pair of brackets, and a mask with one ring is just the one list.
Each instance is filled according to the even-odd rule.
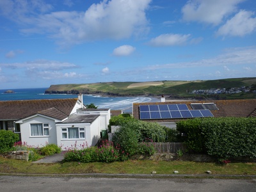
[[[49,124],[49,136],[31,136],[30,124]],[[57,144],[55,121],[44,116],[34,116],[20,123],[20,136],[22,143],[33,147],[43,147],[49,144]]]

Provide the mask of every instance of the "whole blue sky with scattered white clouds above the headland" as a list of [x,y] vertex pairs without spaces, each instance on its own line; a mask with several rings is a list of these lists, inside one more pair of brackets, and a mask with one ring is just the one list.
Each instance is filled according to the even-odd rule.
[[0,89],[256,77],[255,0],[1,0]]

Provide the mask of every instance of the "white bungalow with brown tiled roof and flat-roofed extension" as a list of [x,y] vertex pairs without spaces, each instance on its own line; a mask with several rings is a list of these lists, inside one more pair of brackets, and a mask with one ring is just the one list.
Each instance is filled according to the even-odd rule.
[[31,146],[54,143],[63,150],[95,145],[108,129],[110,109],[86,109],[79,99],[0,101],[0,127]]

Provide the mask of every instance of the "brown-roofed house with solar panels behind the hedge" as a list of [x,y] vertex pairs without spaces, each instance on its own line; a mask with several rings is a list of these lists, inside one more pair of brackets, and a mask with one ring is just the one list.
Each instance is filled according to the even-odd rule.
[[[204,116],[204,113],[206,116]],[[256,117],[256,99],[186,100],[175,102],[134,103],[136,119],[176,127],[175,122],[196,117]]]

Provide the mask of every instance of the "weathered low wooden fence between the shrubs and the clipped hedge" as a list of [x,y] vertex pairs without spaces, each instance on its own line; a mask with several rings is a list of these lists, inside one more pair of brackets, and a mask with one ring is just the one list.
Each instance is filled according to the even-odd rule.
[[184,143],[169,143],[169,142],[154,142],[154,147],[157,153],[175,153],[177,150],[186,151],[186,146]]

